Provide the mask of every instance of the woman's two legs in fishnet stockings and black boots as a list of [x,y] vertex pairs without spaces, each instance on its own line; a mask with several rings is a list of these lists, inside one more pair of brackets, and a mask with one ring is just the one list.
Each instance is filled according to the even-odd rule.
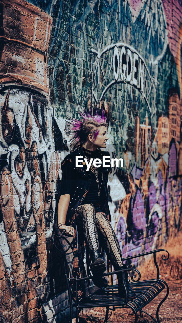
[[[99,253],[98,230],[102,235],[106,253],[114,266],[114,269],[118,270],[126,265],[123,265],[121,250],[116,234],[106,215],[100,212],[96,214],[96,211],[91,204],[78,206],[75,210],[75,216],[78,231],[83,234],[87,247],[89,248],[92,260],[92,274],[97,274],[97,276],[93,278],[93,281],[98,287],[105,287],[107,282],[101,276],[106,269],[106,265]],[[119,282],[119,296],[122,297],[124,293],[123,280],[121,274],[117,276]],[[125,274],[124,279],[128,295],[134,296],[135,293],[129,285],[127,273]]]

